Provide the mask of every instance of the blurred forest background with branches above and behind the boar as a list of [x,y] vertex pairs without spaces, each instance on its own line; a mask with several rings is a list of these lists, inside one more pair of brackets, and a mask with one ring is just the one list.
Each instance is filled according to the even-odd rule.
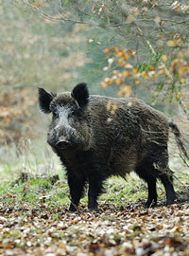
[[188,27],[188,1],[0,0],[4,167],[26,158],[27,148],[43,159],[48,119],[38,87],[59,92],[87,82],[93,94],[141,98],[188,138]]

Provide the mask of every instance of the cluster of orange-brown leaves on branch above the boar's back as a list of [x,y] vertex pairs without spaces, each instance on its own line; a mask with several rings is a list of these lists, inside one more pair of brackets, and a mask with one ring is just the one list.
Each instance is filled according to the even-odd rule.
[[[167,42],[170,47],[176,47],[179,44],[180,39]],[[129,97],[134,85],[140,86],[142,82],[146,81],[160,82],[163,80],[161,84],[164,84],[164,79],[168,82],[170,79],[172,81],[172,78],[176,78],[176,81],[182,84],[185,82],[187,74],[189,74],[189,63],[185,60],[183,51],[179,51],[176,58],[170,59],[167,54],[163,54],[156,57],[154,64],[141,64],[139,66],[136,66],[133,62],[136,54],[133,49],[121,49],[113,46],[112,48],[106,48],[104,52],[108,59],[108,65],[103,70],[105,72],[110,70],[112,77],[107,77],[101,82],[101,88],[116,84],[119,87],[118,97]],[[117,69],[114,69],[115,67]],[[171,94],[173,94],[173,91],[175,91],[176,99],[179,100],[181,92],[178,93],[177,86],[174,86],[173,90],[171,89]]]

